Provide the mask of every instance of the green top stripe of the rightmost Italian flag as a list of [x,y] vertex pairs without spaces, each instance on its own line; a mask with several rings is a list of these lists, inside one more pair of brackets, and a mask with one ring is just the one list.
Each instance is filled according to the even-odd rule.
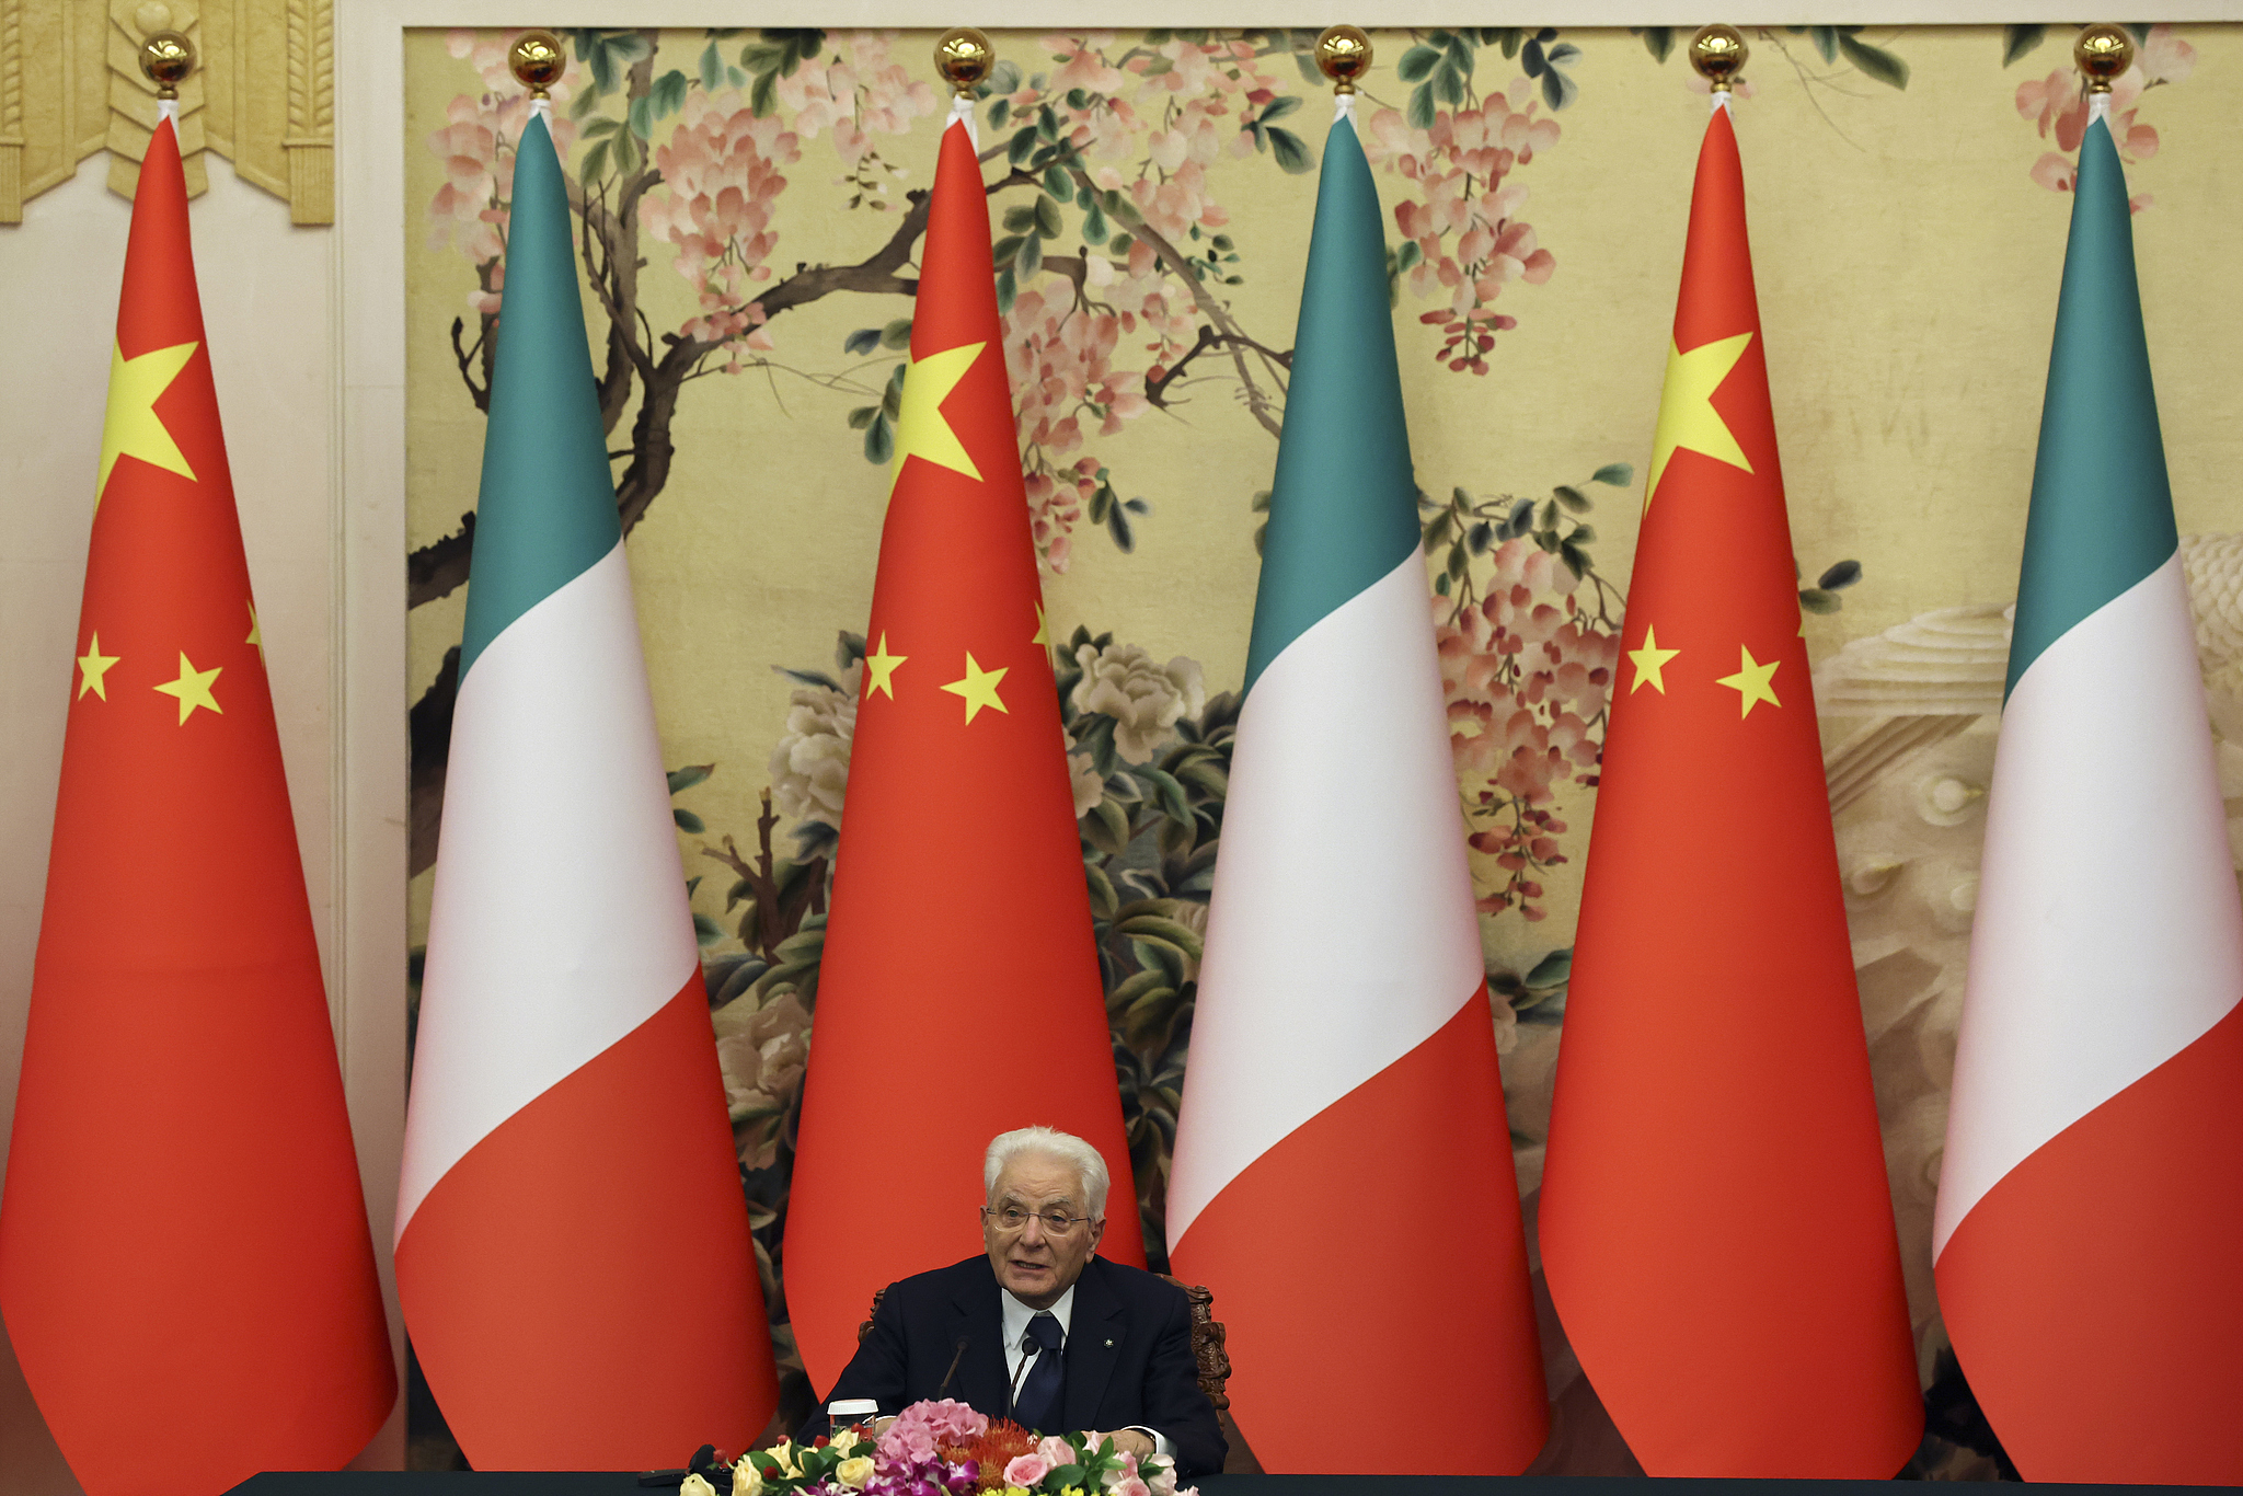
[[2097,119],[2079,146],[2003,698],[2041,650],[2178,547],[2133,276],[2126,175],[2111,126]]

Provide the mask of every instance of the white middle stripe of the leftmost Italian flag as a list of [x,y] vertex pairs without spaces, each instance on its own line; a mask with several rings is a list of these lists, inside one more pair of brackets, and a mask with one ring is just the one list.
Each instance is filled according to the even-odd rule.
[[700,962],[621,541],[460,682],[397,1236]]

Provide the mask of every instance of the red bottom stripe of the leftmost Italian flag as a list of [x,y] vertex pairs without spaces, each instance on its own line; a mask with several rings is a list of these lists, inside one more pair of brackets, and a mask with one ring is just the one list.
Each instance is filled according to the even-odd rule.
[[413,1213],[397,1294],[476,1469],[684,1465],[772,1417],[769,1352],[722,1332],[765,1323],[722,1106],[695,971]]

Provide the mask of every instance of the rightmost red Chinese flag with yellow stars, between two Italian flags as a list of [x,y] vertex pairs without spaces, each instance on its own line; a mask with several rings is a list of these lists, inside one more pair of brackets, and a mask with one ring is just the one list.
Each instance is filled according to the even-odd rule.
[[1889,1478],[1922,1409],[1727,108],[1646,496],[1543,1272],[1649,1474]]

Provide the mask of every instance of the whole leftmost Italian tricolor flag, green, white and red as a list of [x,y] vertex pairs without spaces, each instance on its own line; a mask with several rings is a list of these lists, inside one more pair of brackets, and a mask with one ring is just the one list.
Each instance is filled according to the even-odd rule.
[[514,161],[397,1296],[476,1469],[738,1453],[756,1247],[608,478],[561,161]]

